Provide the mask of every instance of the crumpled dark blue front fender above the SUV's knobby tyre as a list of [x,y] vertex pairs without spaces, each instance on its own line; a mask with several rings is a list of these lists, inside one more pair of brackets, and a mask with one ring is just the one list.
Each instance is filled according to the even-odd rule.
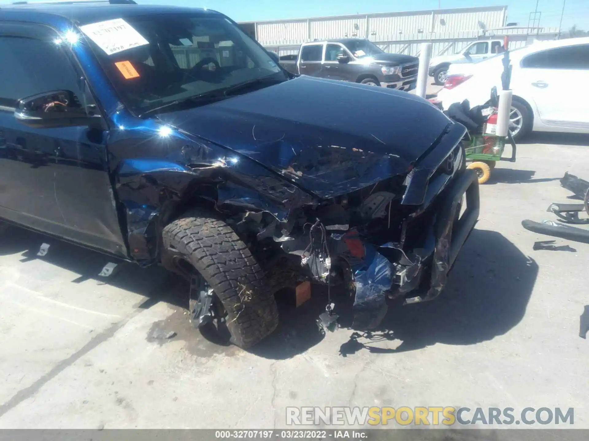
[[293,208],[314,202],[239,153],[169,127],[169,135],[161,136],[161,126],[141,124],[113,131],[108,142],[121,226],[138,263],[158,261],[161,229],[195,204],[221,212],[267,212],[286,222]]

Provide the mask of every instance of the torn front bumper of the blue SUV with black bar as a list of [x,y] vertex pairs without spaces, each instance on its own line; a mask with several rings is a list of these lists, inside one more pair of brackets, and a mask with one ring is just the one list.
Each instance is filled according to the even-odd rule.
[[[310,228],[310,242],[302,253],[302,263],[309,265],[313,278],[329,283],[329,277],[337,272],[338,262],[345,261],[355,289],[354,329],[378,326],[388,309],[387,298],[405,298],[408,304],[439,295],[459,250],[477,223],[476,173],[456,173],[455,179],[437,196],[431,211],[416,213],[419,214],[403,222],[407,233],[403,233],[401,242],[380,245],[367,242],[356,229],[330,232],[318,220]],[[415,233],[413,240],[408,239],[411,230]],[[283,248],[288,244],[285,242]]]

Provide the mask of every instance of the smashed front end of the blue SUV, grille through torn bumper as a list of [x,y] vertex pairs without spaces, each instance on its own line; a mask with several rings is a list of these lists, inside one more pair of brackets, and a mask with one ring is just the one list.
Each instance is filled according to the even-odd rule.
[[[353,328],[375,328],[388,299],[408,304],[439,295],[477,222],[477,176],[465,169],[462,135],[462,126],[449,126],[408,173],[300,203],[282,218],[265,210],[241,212],[234,218],[236,229],[242,236],[255,234],[250,243],[259,249],[259,260],[269,263],[273,283],[346,284],[354,295]],[[280,256],[288,256],[286,262]],[[328,300],[320,327],[329,328],[330,316]]]

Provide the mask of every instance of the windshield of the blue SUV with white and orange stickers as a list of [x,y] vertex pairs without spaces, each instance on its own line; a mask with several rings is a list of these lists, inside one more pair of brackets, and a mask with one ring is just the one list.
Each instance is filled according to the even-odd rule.
[[[186,103],[191,97],[221,97],[228,89],[237,92],[234,86],[242,83],[270,85],[289,78],[263,48],[223,16],[137,16],[124,22],[138,32],[134,47],[125,50],[123,45],[101,44],[100,36],[92,38],[88,28],[102,24],[81,29],[121,99],[136,115],[174,111],[174,103]],[[239,88],[238,93],[249,90]]]

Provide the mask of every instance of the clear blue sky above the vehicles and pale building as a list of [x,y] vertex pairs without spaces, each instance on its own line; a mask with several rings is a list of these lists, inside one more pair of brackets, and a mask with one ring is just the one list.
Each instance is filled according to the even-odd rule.
[[[34,2],[35,0],[31,0]],[[136,0],[140,4],[169,4],[206,7],[229,15],[236,21],[322,15],[369,14],[371,12],[418,11],[441,8],[507,5],[508,21],[528,25],[528,17],[537,0]],[[589,30],[589,0],[564,0],[562,29],[576,24]],[[0,0],[0,4],[12,0]],[[541,26],[558,26],[563,0],[538,0]]]

